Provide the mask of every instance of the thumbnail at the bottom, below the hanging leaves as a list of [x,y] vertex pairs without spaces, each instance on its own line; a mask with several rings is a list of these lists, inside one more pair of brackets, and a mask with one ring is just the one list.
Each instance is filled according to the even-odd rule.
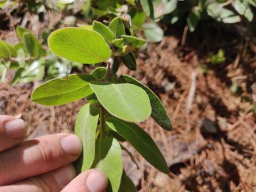
[[86,178],[86,186],[91,192],[102,192],[108,186],[107,177],[101,170],[94,169]]

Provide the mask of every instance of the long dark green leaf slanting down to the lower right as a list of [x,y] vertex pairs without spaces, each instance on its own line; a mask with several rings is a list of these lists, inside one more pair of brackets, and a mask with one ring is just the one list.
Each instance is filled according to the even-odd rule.
[[156,169],[168,174],[169,168],[153,139],[141,127],[117,118],[107,119],[107,125],[123,136]]

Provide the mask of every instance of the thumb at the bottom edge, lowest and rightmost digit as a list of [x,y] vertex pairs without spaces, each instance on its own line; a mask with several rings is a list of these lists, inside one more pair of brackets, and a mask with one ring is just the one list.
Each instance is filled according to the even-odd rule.
[[105,174],[92,169],[79,174],[61,192],[103,192],[108,186]]

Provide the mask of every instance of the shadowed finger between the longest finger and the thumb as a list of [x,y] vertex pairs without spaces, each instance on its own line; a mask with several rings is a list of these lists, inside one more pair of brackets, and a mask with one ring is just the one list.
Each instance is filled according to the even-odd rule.
[[59,192],[76,177],[76,171],[71,164],[57,170],[29,178],[10,186],[0,187],[1,192]]

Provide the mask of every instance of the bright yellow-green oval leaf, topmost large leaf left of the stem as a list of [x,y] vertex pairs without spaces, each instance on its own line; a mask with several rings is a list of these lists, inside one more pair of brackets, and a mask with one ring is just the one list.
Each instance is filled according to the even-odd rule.
[[54,54],[81,63],[103,62],[111,55],[108,44],[99,33],[82,28],[55,30],[48,38],[48,44]]

